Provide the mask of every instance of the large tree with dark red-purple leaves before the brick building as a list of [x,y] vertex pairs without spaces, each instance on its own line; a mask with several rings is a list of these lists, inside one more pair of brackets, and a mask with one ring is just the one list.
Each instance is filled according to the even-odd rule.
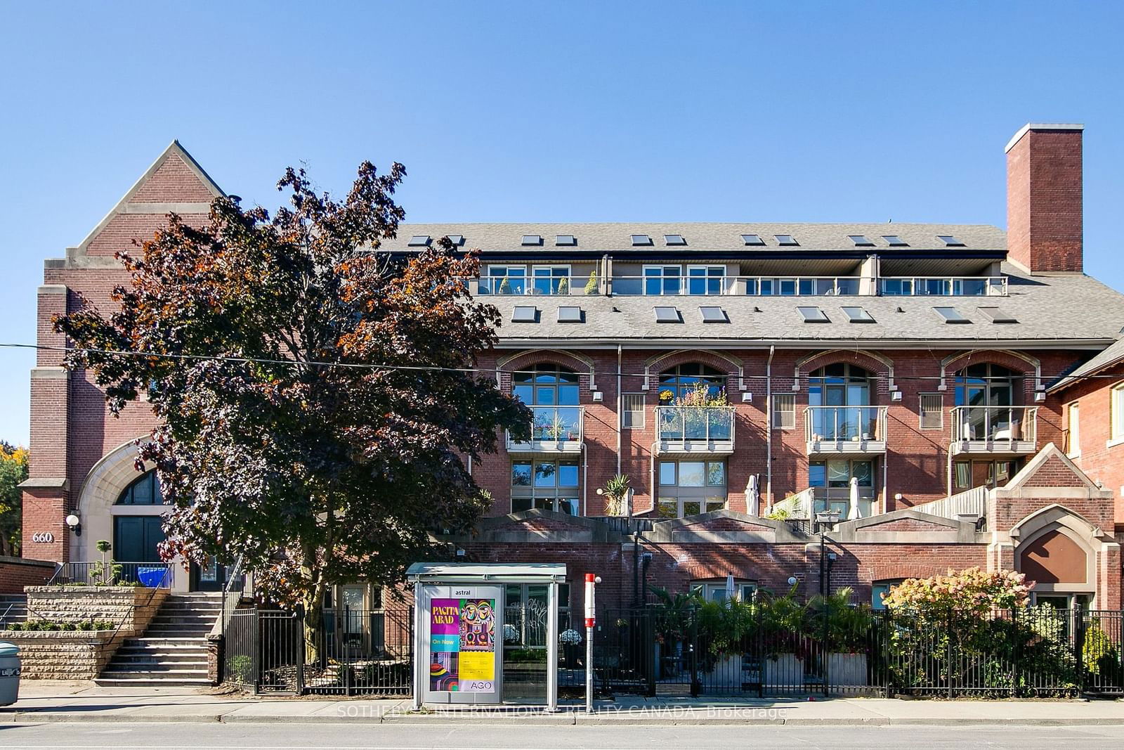
[[144,392],[158,419],[138,463],[172,506],[164,554],[241,555],[305,606],[309,636],[328,586],[398,582],[432,532],[470,527],[487,496],[465,458],[531,423],[473,371],[499,325],[469,296],[475,255],[445,240],[408,260],[380,250],[404,177],[364,163],[336,202],[290,169],[291,207],[272,217],[233,198],[207,226],[170,216],[119,254],[117,309],[55,322],[115,414]]

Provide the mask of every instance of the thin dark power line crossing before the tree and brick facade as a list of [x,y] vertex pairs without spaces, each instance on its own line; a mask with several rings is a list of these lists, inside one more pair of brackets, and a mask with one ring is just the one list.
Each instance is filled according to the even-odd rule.
[[[427,365],[427,364],[379,364],[375,362],[328,362],[319,360],[309,361],[298,361],[298,360],[278,360],[271,358],[261,356],[233,356],[233,355],[219,355],[219,354],[173,354],[166,352],[137,352],[127,350],[112,350],[112,349],[93,349],[88,346],[49,346],[46,344],[17,344],[17,343],[0,343],[0,347],[3,349],[30,349],[30,350],[42,350],[52,352],[66,352],[66,353],[91,353],[91,354],[107,354],[112,356],[140,356],[140,358],[157,358],[157,359],[175,359],[175,360],[192,360],[192,361],[214,361],[214,362],[235,362],[235,363],[255,363],[255,364],[281,364],[281,365],[299,365],[299,367],[317,367],[317,368],[350,368],[350,369],[366,369],[366,370],[402,370],[402,371],[417,371],[417,372],[464,372],[464,373],[492,373],[498,372],[509,372],[502,368],[486,368],[486,367],[472,367],[472,368],[451,368],[451,367],[439,367],[439,365]],[[518,370],[515,370],[518,372]],[[608,371],[592,371],[595,376],[602,378],[616,377],[616,370]],[[659,377],[656,372],[622,372],[622,377],[625,378],[652,378]],[[767,374],[742,374],[737,376],[742,379],[756,379],[764,380],[770,376]],[[771,376],[774,380],[785,380],[791,376]],[[810,376],[805,376],[810,377]],[[1019,376],[1021,378],[1024,376]],[[1042,374],[1039,376],[1040,380],[1052,380],[1055,378],[1064,378],[1067,373],[1058,373],[1053,376]],[[1080,379],[1116,379],[1118,380],[1121,376],[1118,374],[1088,374],[1079,376]],[[870,380],[890,380],[889,376],[879,374],[872,372]],[[954,373],[949,373],[944,377],[941,376],[895,376],[892,380],[909,380],[909,381],[932,381],[932,380],[957,380],[958,376]],[[1000,380],[1009,381],[1009,378],[1004,377],[968,377],[971,382],[977,381],[988,381],[988,380]]]

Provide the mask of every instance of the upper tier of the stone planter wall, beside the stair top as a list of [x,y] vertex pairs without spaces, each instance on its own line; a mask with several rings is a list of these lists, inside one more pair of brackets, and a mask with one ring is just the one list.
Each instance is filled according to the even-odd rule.
[[109,620],[129,635],[144,632],[167,598],[167,589],[143,586],[28,586],[25,591],[28,620]]

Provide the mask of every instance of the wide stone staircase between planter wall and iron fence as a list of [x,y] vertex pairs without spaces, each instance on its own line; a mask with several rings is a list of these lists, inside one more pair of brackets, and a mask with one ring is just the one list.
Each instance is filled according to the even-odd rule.
[[144,634],[126,639],[94,681],[109,687],[210,685],[207,634],[221,612],[220,593],[170,595]]

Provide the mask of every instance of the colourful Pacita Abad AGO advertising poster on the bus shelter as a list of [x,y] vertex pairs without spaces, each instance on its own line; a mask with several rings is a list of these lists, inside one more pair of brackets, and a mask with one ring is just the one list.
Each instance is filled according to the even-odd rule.
[[496,690],[496,599],[429,600],[429,689]]

